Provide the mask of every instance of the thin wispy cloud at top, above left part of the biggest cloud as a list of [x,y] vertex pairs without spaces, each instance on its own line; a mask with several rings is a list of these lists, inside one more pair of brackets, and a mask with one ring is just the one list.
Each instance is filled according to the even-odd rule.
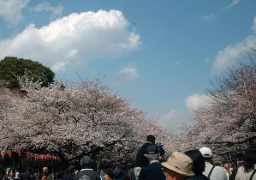
[[49,2],[42,2],[37,4],[31,10],[35,12],[41,12],[41,11],[51,12],[50,19],[55,19],[62,15],[63,6],[59,4],[57,7],[55,7],[55,6],[52,6]]

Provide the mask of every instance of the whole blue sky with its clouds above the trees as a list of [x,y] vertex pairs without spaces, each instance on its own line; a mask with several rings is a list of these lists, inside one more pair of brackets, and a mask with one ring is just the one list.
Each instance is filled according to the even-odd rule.
[[206,105],[209,79],[256,43],[256,1],[0,0],[0,59],[57,79],[96,74],[168,131]]

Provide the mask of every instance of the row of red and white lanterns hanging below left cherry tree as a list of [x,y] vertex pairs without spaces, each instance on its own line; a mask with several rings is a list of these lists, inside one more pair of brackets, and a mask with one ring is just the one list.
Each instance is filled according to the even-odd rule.
[[[1,151],[1,156],[4,159],[5,155],[8,155],[10,158],[12,156],[12,153],[17,152],[19,156],[22,154],[22,149],[19,148],[17,151],[13,150],[7,150],[7,151]],[[26,153],[27,159],[34,159],[35,161],[57,161],[61,162],[61,159],[59,156],[51,155],[51,154],[34,154],[32,152],[27,151]]]

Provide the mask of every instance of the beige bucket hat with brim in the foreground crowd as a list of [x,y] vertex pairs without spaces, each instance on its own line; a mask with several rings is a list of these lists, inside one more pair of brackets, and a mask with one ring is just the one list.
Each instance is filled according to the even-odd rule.
[[178,174],[194,176],[194,173],[191,170],[192,164],[193,161],[189,156],[180,152],[173,152],[167,162],[162,163],[162,166],[173,170]]

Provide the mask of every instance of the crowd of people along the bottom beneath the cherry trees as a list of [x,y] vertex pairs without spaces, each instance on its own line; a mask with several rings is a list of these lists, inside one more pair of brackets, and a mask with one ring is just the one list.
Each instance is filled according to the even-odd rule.
[[245,153],[237,154],[236,164],[223,162],[223,167],[213,165],[213,152],[209,147],[184,153],[173,152],[167,160],[161,145],[155,137],[148,135],[136,155],[134,168],[127,170],[122,162],[101,163],[100,170],[94,170],[90,156],[80,160],[80,170],[70,165],[66,173],[49,174],[44,167],[31,173],[29,168],[19,174],[7,168],[3,180],[256,180],[256,148],[249,147]]

